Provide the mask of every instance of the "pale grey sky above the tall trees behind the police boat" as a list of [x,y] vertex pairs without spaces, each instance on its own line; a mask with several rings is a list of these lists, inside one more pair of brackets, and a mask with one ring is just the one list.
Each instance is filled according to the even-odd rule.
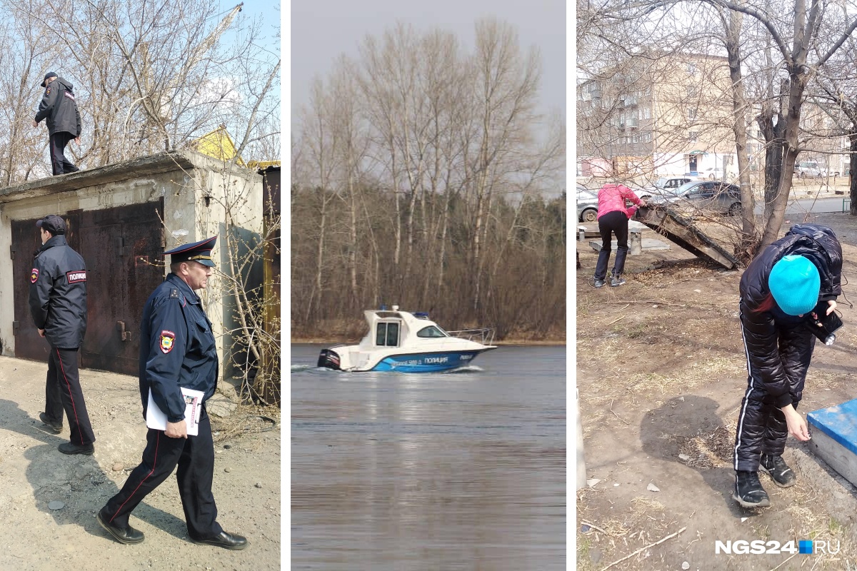
[[307,103],[309,83],[326,77],[339,54],[357,55],[367,34],[380,36],[403,21],[441,27],[470,47],[476,20],[494,16],[517,29],[524,50],[536,45],[542,52],[542,112],[566,114],[565,0],[291,0],[290,14],[292,110]]

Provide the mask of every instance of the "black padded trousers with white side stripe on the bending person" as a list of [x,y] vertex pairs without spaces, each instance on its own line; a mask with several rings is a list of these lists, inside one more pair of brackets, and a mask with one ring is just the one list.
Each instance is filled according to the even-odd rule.
[[[742,334],[746,335],[741,327]],[[815,337],[804,324],[783,327],[777,330],[777,342],[780,359],[794,366],[785,368],[788,378],[788,394],[792,405],[797,408],[803,397],[806,372],[812,360]],[[788,424],[786,415],[772,401],[764,390],[764,382],[756,367],[747,359],[747,388],[735,430],[734,469],[758,472],[758,463],[762,454],[782,455],[786,449]]]

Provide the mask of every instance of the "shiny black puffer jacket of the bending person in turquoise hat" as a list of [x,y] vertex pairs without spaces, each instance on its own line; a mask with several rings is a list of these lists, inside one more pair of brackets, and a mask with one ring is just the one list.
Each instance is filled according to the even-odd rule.
[[744,328],[744,342],[749,360],[750,376],[760,394],[785,407],[791,404],[790,384],[786,371],[800,370],[800,355],[812,351],[815,337],[785,336],[780,332],[809,317],[797,318],[783,313],[776,303],[768,311],[759,311],[770,303],[768,277],[783,256],[800,255],[812,261],[821,277],[818,300],[836,300],[842,294],[842,246],[833,230],[818,224],[797,224],[750,262],[740,281],[740,317]]

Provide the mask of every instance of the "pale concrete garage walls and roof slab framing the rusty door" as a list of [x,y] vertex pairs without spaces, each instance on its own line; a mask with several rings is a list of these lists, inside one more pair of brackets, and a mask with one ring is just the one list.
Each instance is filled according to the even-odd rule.
[[[223,168],[222,162],[199,153],[173,152],[0,188],[0,352],[15,355],[13,300],[16,295],[28,294],[26,287],[13,280],[9,254],[13,220],[145,203],[153,203],[154,208],[163,198],[165,249],[218,234],[213,256],[220,269],[227,271],[221,252],[225,211],[219,200],[243,195],[242,200],[233,199],[236,223],[253,230],[258,220],[261,230],[262,184],[261,175],[253,171],[236,168],[227,177],[221,172]],[[164,275],[167,272],[165,267]],[[226,363],[225,348],[231,346],[231,339],[222,332],[225,307],[232,301],[219,282],[222,280],[215,280],[215,287],[205,292],[202,299],[215,334],[221,333],[218,349],[221,362]]]

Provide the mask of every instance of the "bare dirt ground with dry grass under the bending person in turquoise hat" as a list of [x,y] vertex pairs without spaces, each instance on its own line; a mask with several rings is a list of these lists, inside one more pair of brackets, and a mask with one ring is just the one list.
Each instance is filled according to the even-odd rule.
[[[857,300],[857,220],[830,214],[812,221],[840,236],[843,290]],[[780,489],[761,475],[771,498],[766,509],[742,509],[731,497],[746,388],[740,271],[673,247],[629,256],[625,286],[595,289],[596,253],[577,244],[584,266],[577,271],[577,382],[587,478],[598,480],[577,493],[578,569],[607,568],[637,550],[610,569],[857,568],[857,490],[794,438],[784,458],[797,485]],[[846,326],[832,348],[816,348],[803,413],[857,397],[857,308],[842,298],[840,308]],[[833,549],[838,542],[840,550],[715,554],[716,540],[739,539],[815,539]]]

